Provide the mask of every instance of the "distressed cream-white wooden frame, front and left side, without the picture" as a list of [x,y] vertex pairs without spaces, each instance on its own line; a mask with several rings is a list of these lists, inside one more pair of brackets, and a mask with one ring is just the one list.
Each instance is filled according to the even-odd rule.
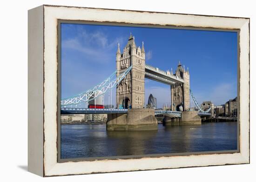
[[[60,161],[60,21],[238,32],[238,146],[235,152]],[[249,163],[249,18],[42,5],[28,11],[28,170],[39,176]]]

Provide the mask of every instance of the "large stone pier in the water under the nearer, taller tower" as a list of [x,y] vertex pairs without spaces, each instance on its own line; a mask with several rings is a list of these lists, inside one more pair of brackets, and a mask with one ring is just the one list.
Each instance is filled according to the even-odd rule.
[[155,110],[149,108],[128,109],[125,114],[108,114],[108,131],[157,130]]

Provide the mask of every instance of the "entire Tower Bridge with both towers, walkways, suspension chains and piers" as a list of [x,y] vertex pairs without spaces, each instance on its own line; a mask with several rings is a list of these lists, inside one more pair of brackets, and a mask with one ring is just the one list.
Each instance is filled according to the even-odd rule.
[[[193,116],[191,115],[189,119],[197,121],[200,118],[199,116],[210,115],[208,110],[204,111],[199,106],[190,90],[189,69],[186,70],[179,62],[175,73],[173,73],[172,69],[171,71],[163,71],[146,64],[145,56],[144,43],[142,42],[141,47],[136,46],[135,37],[131,34],[122,52],[118,44],[115,72],[94,88],[90,88],[81,94],[62,99],[61,114],[108,113],[108,129],[110,130],[120,129],[120,125],[122,125],[120,130],[129,130],[130,128],[128,127],[130,126],[134,126],[131,130],[140,130],[141,128],[142,130],[155,129],[157,120],[154,115],[157,114],[165,115],[166,121],[168,121],[168,118],[172,121],[174,118],[182,118],[184,120],[187,119],[185,115],[189,116],[191,113],[193,113]],[[170,85],[171,111],[152,111],[152,109],[144,108],[145,78]],[[97,98],[102,97],[102,95],[104,96],[106,93],[110,96],[111,92],[112,98],[112,89],[116,89],[115,108],[88,109],[77,107],[81,103],[88,104],[91,100],[97,100]],[[192,100],[190,100],[190,96]],[[194,109],[190,108],[191,101],[194,102]],[[126,116],[124,116],[125,114]],[[136,123],[134,123],[135,121]]]

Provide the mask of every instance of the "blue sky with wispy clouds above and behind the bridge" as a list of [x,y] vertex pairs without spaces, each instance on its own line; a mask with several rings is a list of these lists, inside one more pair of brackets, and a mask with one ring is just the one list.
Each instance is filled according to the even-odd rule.
[[[147,64],[175,71],[181,61],[189,67],[190,89],[199,103],[211,100],[220,105],[236,97],[236,32],[62,23],[61,98],[81,93],[111,75],[117,44],[122,50],[130,32],[137,46],[144,41]],[[168,85],[145,79],[145,103],[150,93],[157,98],[157,107],[170,104]]]

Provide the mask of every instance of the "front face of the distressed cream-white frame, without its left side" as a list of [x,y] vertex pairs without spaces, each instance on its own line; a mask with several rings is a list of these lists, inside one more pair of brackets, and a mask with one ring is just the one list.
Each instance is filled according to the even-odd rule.
[[[43,8],[43,170],[41,176],[61,176],[115,171],[181,168],[249,163],[249,19],[173,13],[152,13],[96,8],[40,6]],[[57,162],[57,24],[58,19],[129,24],[174,25],[240,29],[240,152],[232,154],[202,154],[171,157],[143,157],[141,159]],[[241,89],[240,89],[241,88]],[[31,130],[31,128],[29,128]]]

